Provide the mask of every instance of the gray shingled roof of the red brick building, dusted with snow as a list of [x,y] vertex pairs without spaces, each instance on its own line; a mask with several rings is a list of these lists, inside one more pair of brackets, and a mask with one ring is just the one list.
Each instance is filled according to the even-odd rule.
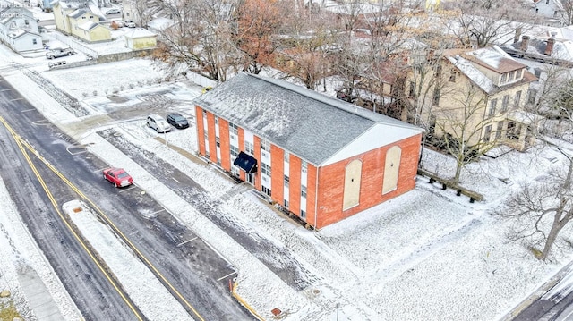
[[194,103],[314,165],[377,122],[421,131],[316,91],[247,73],[239,73]]

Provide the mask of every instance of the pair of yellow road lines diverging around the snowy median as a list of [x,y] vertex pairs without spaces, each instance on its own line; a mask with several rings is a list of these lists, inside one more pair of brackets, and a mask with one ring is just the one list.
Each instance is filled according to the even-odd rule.
[[[75,187],[75,185],[73,185],[72,182],[70,182],[66,177],[64,177],[64,175],[62,173],[60,173],[59,171],[56,170],[56,168],[49,164],[43,157],[40,157],[38,155],[38,152],[32,148],[30,146],[30,144],[25,141],[24,139],[21,139],[20,135],[18,135],[15,131],[13,131],[12,127],[8,124],[8,122],[6,122],[4,120],[4,118],[2,116],[0,116],[0,122],[2,122],[4,124],[4,127],[10,131],[11,135],[13,136],[14,141],[16,141],[16,144],[18,144],[18,148],[20,148],[22,155],[26,158],[26,161],[28,162],[28,164],[30,165],[30,168],[32,169],[32,171],[36,174],[36,177],[38,178],[38,182],[42,185],[42,187],[44,188],[44,190],[46,191],[47,197],[50,199],[50,202],[52,203],[52,206],[56,209],[57,214],[60,216],[60,218],[62,219],[62,221],[64,222],[65,226],[70,230],[70,232],[73,233],[73,236],[76,238],[76,240],[81,244],[81,247],[88,253],[88,255],[90,256],[90,258],[94,261],[94,263],[98,266],[99,270],[101,270],[101,272],[106,276],[107,280],[109,281],[109,283],[111,283],[111,285],[114,287],[115,291],[117,291],[117,293],[119,293],[119,295],[122,297],[122,299],[125,301],[125,303],[127,304],[127,306],[133,311],[133,314],[135,315],[135,317],[138,318],[138,320],[143,320],[144,317],[141,316],[140,312],[137,310],[137,308],[135,308],[133,306],[133,302],[132,300],[130,300],[125,292],[120,288],[120,286],[115,282],[114,278],[107,272],[107,270],[99,263],[98,259],[95,257],[94,253],[90,250],[90,248],[86,245],[86,243],[84,241],[82,241],[80,235],[78,235],[77,232],[75,232],[75,230],[73,229],[73,226],[71,224],[69,224],[69,222],[65,219],[65,216],[62,214],[62,212],[60,211],[60,208],[57,205],[56,199],[54,199],[52,193],[50,192],[50,190],[48,189],[46,182],[44,182],[44,179],[41,177],[40,173],[38,172],[38,169],[36,168],[36,166],[32,163],[30,156],[28,155],[28,153],[26,152],[26,149],[30,150],[30,152],[32,154],[35,154],[38,156],[38,159],[44,163],[44,165],[47,165],[47,167],[53,172],[56,173],[56,175],[62,180],[64,181],[72,190],[74,190],[80,197],[81,199],[85,199],[86,202],[88,202],[90,204],[90,207],[92,207],[97,213],[98,215],[103,218],[106,223],[113,228],[114,232],[119,235],[126,244],[128,244],[128,246],[133,249],[133,251],[138,255],[138,257],[148,266],[150,267],[150,269],[153,271],[153,273],[159,277],[159,279],[161,279],[161,281],[167,285],[167,287],[169,288],[170,291],[172,291],[173,293],[175,293],[175,296],[180,300],[180,302],[184,303],[184,305],[189,308],[193,314],[195,315],[195,317],[197,317],[199,320],[201,321],[205,321],[205,319],[203,319],[203,317],[201,317],[201,315],[199,314],[199,312],[197,312],[197,310],[195,308],[192,307],[192,305],[185,300],[184,296],[175,289],[175,286],[173,286],[171,283],[169,283],[169,281],[167,281],[167,278],[162,275],[158,269],[153,266],[150,262],[150,260],[148,258],[146,258],[145,256],[143,256],[143,254],[141,253],[141,251],[139,249],[137,249],[135,247],[135,245],[133,245],[132,241],[130,241],[123,232],[121,232],[116,226],[115,224],[107,217],[107,215],[105,215],[98,206],[96,206],[96,204],[91,201],[91,199],[89,199],[87,196],[85,196],[81,190],[78,190],[77,187]],[[24,148],[25,147],[25,148]]]

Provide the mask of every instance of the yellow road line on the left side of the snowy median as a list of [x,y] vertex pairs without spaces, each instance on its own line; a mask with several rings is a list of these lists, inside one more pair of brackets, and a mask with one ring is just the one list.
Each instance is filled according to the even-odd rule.
[[[18,144],[18,148],[20,148],[22,155],[26,158],[26,162],[28,162],[28,165],[30,165],[32,172],[34,172],[34,174],[38,178],[38,182],[40,183],[40,185],[42,185],[42,188],[44,189],[44,191],[46,191],[47,198],[50,199],[52,206],[56,209],[56,213],[57,213],[57,215],[60,216],[60,218],[62,219],[62,222],[64,222],[64,224],[68,228],[68,230],[70,230],[70,232],[72,232],[75,239],[80,243],[81,248],[83,248],[86,251],[86,253],[90,256],[92,261],[96,264],[96,266],[98,266],[99,270],[106,276],[107,281],[109,281],[109,283],[114,287],[115,291],[117,291],[117,293],[122,297],[122,299],[125,301],[127,306],[133,311],[133,314],[135,315],[135,317],[137,317],[139,320],[143,320],[143,317],[141,317],[140,313],[133,307],[132,302],[129,299],[127,299],[127,297],[124,295],[124,291],[120,290],[119,286],[117,285],[117,283],[115,283],[114,279],[107,273],[106,269],[103,266],[101,266],[98,259],[95,258],[95,255],[93,254],[93,252],[88,248],[88,246],[85,244],[85,242],[81,240],[80,235],[73,230],[72,226],[65,219],[64,215],[62,214],[62,212],[59,209],[59,206],[57,205],[56,199],[54,199],[54,196],[52,195],[51,191],[47,187],[46,182],[44,182],[44,179],[42,178],[41,174],[38,172],[36,165],[33,164],[32,160],[30,159],[30,156],[26,152],[26,149],[22,146],[23,144],[28,146],[28,144],[23,139],[21,139],[21,137],[19,135],[17,135],[10,126],[8,126],[8,124],[4,121],[4,118],[1,116],[0,116],[0,122],[3,122],[4,126],[6,126],[8,131],[10,131],[10,133],[12,134],[13,139],[16,141],[16,144]],[[43,160],[42,160],[42,162],[43,162]]]

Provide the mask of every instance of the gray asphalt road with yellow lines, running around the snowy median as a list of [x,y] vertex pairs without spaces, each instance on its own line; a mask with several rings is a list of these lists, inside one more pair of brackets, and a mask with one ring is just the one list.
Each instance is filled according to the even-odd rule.
[[[234,276],[233,266],[218,257],[201,239],[195,238],[192,231],[137,187],[117,190],[104,181],[100,170],[107,165],[74,145],[72,139],[44,120],[4,80],[0,81],[0,101],[3,102],[0,104],[0,114],[7,122],[106,213],[146,258],[144,261],[164,276],[167,289],[178,293],[175,298],[182,302],[190,316],[206,320],[252,319],[229,294],[228,281]],[[9,144],[8,139],[2,141]],[[64,234],[58,219],[49,210],[47,200],[42,199],[38,183],[30,178],[33,177],[30,170],[25,165],[13,164],[18,157],[4,153],[4,158],[2,175],[8,189],[13,193],[16,204],[26,208],[26,214],[22,215],[27,216],[25,221],[29,223],[30,232],[41,244],[40,247],[84,316],[93,320],[133,319],[133,312],[130,315],[124,302],[115,300],[113,291],[105,287],[108,284],[94,271],[93,266],[89,266],[89,262],[83,265],[70,262],[79,260],[74,257],[81,256],[81,250],[73,244],[69,235]],[[45,174],[47,178],[51,177],[50,186],[57,186],[51,189],[57,191],[58,204],[77,199],[53,175]],[[21,190],[26,186],[33,186],[35,190],[30,190],[31,187]],[[29,199],[42,199],[42,202],[30,202]],[[34,222],[39,216],[35,212],[46,215],[46,221]],[[46,229],[46,226],[53,228]]]

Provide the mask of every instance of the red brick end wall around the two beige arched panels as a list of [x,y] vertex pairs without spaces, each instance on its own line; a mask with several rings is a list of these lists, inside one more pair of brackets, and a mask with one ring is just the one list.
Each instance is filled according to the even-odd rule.
[[[315,228],[320,229],[326,225],[333,224],[388,199],[395,198],[408,190],[413,190],[415,188],[415,175],[420,153],[420,139],[421,135],[416,135],[415,137],[401,140],[396,144],[377,148],[338,163],[321,167],[319,170],[319,213],[316,225],[314,225]],[[398,188],[382,195],[386,152],[389,148],[396,145],[402,149]],[[345,169],[346,165],[355,159],[360,159],[363,162],[360,203],[357,207],[349,208],[343,212]]]

